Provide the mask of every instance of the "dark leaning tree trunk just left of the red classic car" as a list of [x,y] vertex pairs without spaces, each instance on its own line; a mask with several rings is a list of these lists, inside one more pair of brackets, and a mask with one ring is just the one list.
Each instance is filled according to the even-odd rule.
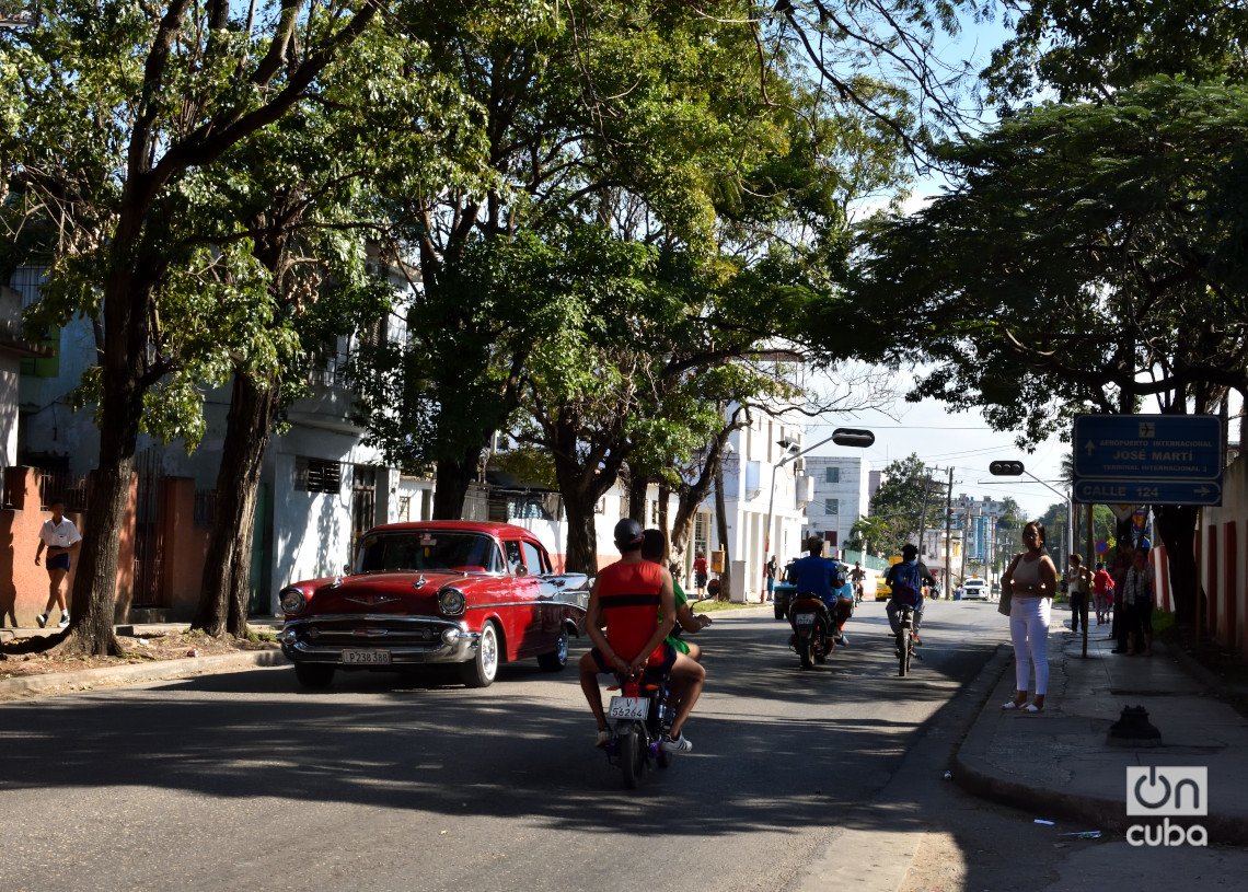
[[256,494],[280,393],[277,374],[260,384],[245,374],[235,374],[217,470],[217,513],[203,561],[200,606],[191,624],[213,637],[226,631],[247,634],[247,601],[243,600],[241,618],[233,603],[240,574],[242,588],[251,586]]

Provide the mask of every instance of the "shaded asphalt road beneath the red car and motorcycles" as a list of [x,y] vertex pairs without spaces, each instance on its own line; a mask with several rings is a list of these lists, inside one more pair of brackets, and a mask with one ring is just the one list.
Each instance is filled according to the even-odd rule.
[[[995,605],[934,604],[926,659],[899,679],[886,629],[861,605],[851,646],[804,672],[770,608],[718,619],[695,750],[634,792],[593,747],[570,666],[504,666],[479,691],[353,674],[306,692],[283,667],[4,705],[0,885],[821,887],[871,835],[922,830],[899,768],[957,732],[971,711],[951,700],[1002,640]],[[896,888],[905,846],[870,857]]]

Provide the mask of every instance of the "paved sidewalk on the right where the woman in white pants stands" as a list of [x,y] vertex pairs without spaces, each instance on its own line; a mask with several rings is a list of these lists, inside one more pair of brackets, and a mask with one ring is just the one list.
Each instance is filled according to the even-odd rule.
[[[1222,702],[1199,671],[1188,671],[1159,641],[1153,657],[1111,654],[1109,625],[1096,625],[1082,657],[1082,635],[1070,613],[1055,610],[1048,637],[1045,711],[1002,711],[1015,690],[1013,649],[988,664],[1000,671],[992,694],[955,756],[953,777],[972,793],[1022,808],[1037,818],[1068,818],[1081,828],[1124,833],[1158,816],[1127,816],[1129,766],[1204,766],[1211,843],[1248,846],[1248,720]],[[1186,655],[1184,660],[1188,660]],[[1124,706],[1143,706],[1161,746],[1106,742]]]

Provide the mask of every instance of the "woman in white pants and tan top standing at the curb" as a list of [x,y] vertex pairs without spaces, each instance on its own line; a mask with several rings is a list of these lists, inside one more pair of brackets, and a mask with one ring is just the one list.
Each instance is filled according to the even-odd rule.
[[[1015,556],[1010,569],[1001,578],[1012,585],[1010,599],[1010,637],[1015,645],[1013,700],[1002,704],[1003,710],[1040,712],[1045,709],[1048,691],[1048,610],[1057,589],[1057,568],[1045,554],[1045,525],[1032,520],[1022,528],[1026,551]],[[1031,669],[1036,669],[1036,696],[1027,702],[1031,689]]]

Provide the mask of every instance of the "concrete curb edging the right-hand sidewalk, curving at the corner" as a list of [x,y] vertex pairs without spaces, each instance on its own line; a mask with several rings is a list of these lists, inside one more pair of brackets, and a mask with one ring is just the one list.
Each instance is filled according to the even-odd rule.
[[[996,681],[988,685],[991,691],[988,700],[953,755],[956,783],[968,793],[991,802],[998,802],[1032,815],[1042,815],[1046,818],[1060,817],[1097,830],[1124,835],[1131,826],[1139,822],[1138,818],[1127,817],[1124,800],[1106,800],[1098,796],[1032,786],[992,765],[987,754],[996,735],[992,720],[997,716],[991,714],[991,719],[985,719],[986,715],[990,715],[987,702],[993,702],[993,699],[1008,699],[1013,692],[1013,679],[1006,677],[1013,654],[1006,646],[1002,647],[1001,654],[1006,656],[1001,659],[1000,669],[990,665],[985,670],[998,672]],[[1208,831],[1209,842],[1248,846],[1248,818],[1233,815],[1206,815],[1199,818],[1198,823]]]

